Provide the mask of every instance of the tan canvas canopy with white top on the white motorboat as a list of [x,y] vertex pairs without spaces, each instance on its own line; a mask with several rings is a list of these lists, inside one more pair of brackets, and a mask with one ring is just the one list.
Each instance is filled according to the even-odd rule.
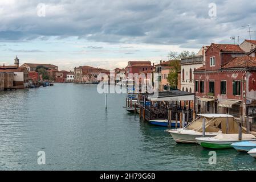
[[[219,132],[234,134],[238,133],[238,123],[234,117],[228,114],[219,114],[213,117],[214,114],[198,114],[197,117],[190,125],[186,126],[185,129],[190,129],[198,132],[202,132],[202,119],[205,118],[205,131],[206,132]],[[224,117],[224,115],[226,117]],[[209,116],[209,117],[208,117]],[[242,132],[245,133],[245,129],[242,128]]]

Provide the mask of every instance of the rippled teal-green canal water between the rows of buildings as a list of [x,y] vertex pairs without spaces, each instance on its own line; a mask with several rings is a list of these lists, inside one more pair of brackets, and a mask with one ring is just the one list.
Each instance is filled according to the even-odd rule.
[[[256,160],[233,149],[209,152],[176,144],[164,127],[123,109],[124,94],[97,85],[0,92],[0,169],[15,170],[255,170]],[[46,154],[39,165],[38,151]]]

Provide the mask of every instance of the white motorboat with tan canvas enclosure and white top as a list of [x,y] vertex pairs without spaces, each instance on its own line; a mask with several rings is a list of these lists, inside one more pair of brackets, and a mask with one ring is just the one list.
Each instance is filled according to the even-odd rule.
[[238,133],[238,125],[233,115],[229,114],[198,114],[188,126],[183,129],[166,130],[177,143],[197,143],[196,138],[202,137],[202,119],[205,118],[205,137],[215,137],[218,134]]

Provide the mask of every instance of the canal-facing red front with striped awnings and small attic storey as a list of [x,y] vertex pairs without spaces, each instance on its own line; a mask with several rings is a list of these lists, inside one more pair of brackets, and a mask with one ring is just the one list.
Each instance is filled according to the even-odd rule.
[[244,72],[225,67],[231,60],[243,56],[245,51],[233,44],[212,43],[207,49],[205,65],[194,71],[197,112],[242,115]]

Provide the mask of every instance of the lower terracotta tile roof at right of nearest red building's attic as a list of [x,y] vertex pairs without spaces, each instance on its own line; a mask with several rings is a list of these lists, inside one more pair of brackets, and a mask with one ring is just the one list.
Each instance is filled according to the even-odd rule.
[[242,56],[234,57],[229,63],[222,66],[222,68],[247,68],[247,67],[256,67],[256,57],[251,56]]

